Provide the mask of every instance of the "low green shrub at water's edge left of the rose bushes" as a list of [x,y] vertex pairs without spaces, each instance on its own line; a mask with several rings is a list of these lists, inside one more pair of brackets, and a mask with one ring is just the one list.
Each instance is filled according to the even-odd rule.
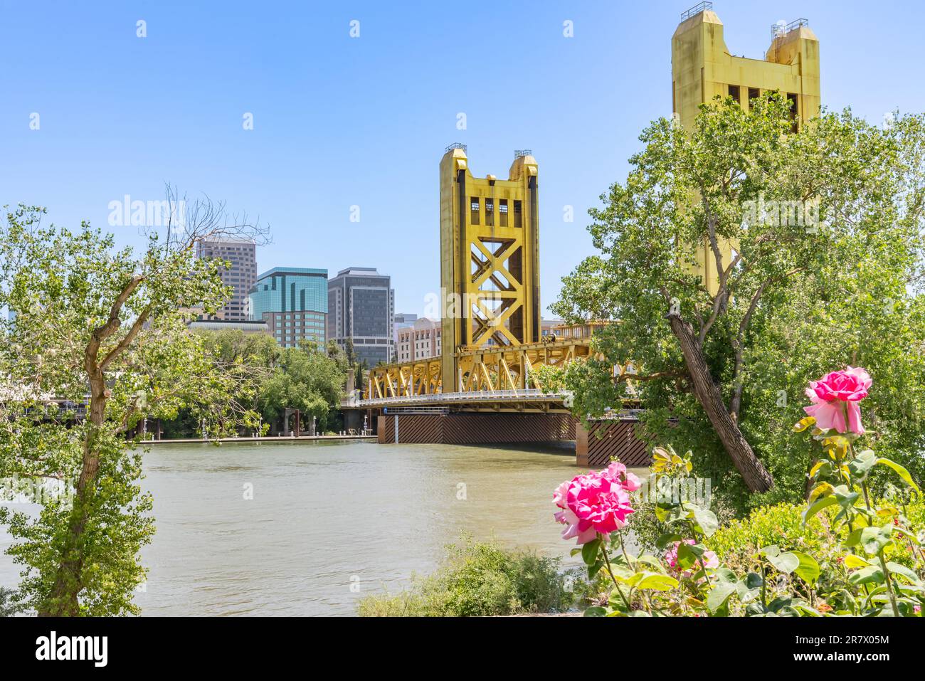
[[414,576],[412,587],[401,593],[367,596],[358,611],[361,617],[561,613],[573,602],[567,581],[558,558],[507,551],[463,535],[447,547],[436,573]]

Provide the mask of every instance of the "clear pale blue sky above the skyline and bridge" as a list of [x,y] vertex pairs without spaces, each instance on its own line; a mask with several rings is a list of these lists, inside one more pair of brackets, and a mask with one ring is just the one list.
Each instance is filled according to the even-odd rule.
[[[3,1],[0,204],[107,227],[110,201],[158,200],[170,181],[268,222],[261,271],[376,266],[397,310],[420,314],[439,285],[444,147],[466,143],[476,175],[502,177],[513,150],[529,148],[545,310],[591,252],[587,208],[623,178],[648,121],[671,114],[672,32],[694,4]],[[808,18],[831,108],[875,122],[925,110],[919,2],[714,9],[730,51],[753,57],[773,22]],[[245,112],[254,130],[242,129]],[[139,241],[135,228],[112,229]]]

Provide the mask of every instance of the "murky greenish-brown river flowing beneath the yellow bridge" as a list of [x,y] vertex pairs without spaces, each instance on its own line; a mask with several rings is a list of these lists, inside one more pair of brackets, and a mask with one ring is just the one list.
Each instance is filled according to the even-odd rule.
[[[145,615],[354,614],[432,571],[462,532],[578,560],[552,520],[552,490],[579,472],[568,449],[158,444],[144,468],[157,520]],[[0,585],[17,574],[0,555]]]

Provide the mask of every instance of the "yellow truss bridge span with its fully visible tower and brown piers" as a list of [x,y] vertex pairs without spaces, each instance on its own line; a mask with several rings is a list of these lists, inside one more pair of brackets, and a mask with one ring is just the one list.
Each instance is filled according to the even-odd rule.
[[589,357],[605,322],[543,332],[536,160],[516,151],[508,180],[475,178],[465,152],[453,144],[440,161],[443,353],[369,369],[362,396],[341,404],[344,425],[375,428],[382,443],[575,440],[579,464],[645,463],[633,405],[602,427],[607,440],[589,438],[559,372],[545,370]]

